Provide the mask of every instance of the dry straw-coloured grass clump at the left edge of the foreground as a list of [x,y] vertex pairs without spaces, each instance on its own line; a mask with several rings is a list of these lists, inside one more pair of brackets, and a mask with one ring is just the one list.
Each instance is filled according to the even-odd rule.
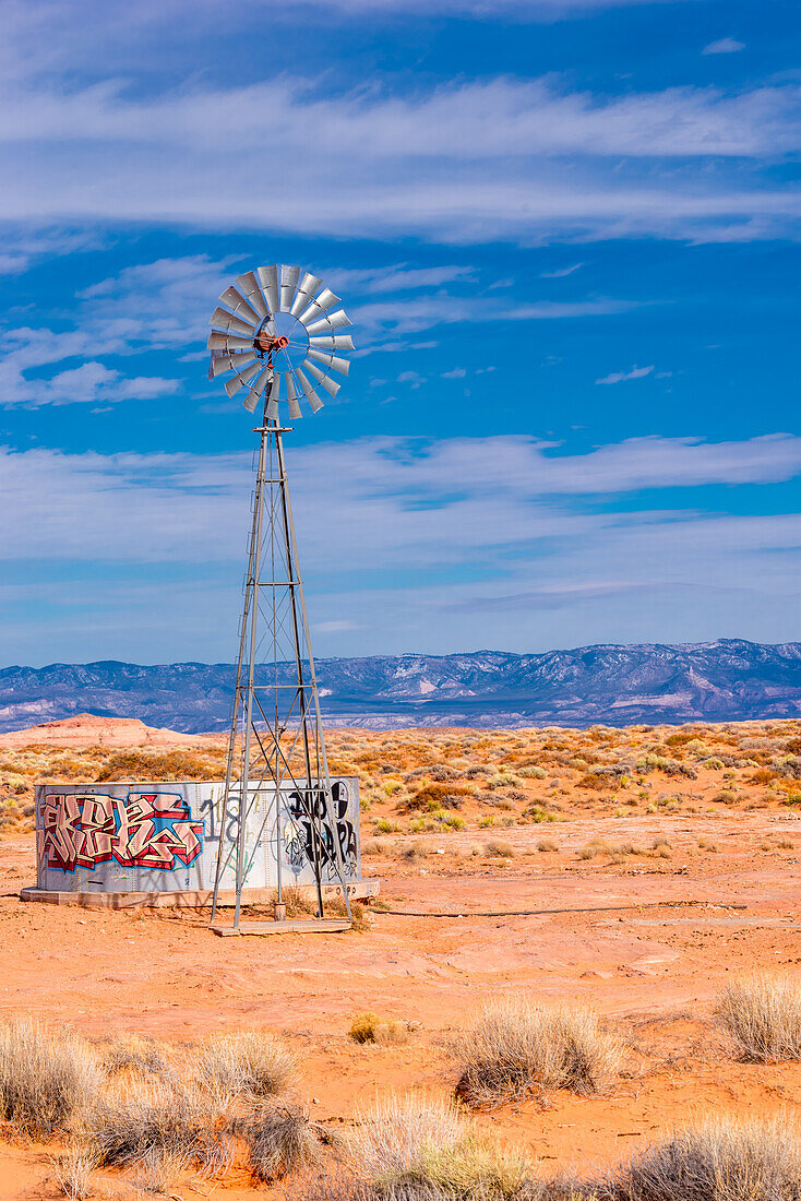
[[0,1118],[18,1134],[49,1137],[95,1100],[102,1071],[94,1048],[31,1018],[0,1024]]

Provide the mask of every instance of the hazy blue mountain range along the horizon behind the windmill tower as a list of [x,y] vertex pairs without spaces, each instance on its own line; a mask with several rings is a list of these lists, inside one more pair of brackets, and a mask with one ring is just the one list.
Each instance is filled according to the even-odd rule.
[[[288,668],[283,671],[288,679]],[[317,662],[329,724],[574,725],[801,716],[801,643],[741,639]],[[184,733],[225,729],[229,663],[52,663],[0,670],[0,730],[90,712]]]

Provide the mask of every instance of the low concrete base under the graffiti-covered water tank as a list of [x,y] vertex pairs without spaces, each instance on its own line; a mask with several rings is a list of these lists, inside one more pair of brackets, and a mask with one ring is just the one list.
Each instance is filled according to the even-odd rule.
[[[317,900],[313,884],[293,888],[310,900]],[[377,879],[354,880],[347,886],[347,894],[353,901],[377,897],[379,891],[381,882]],[[76,904],[86,909],[203,909],[211,904],[211,896],[210,889],[190,892],[48,892],[31,885],[20,891],[19,900],[38,901],[42,904]],[[340,884],[323,884],[323,901],[341,896]],[[232,906],[235,900],[233,889],[223,889],[217,904]],[[275,889],[243,889],[241,900],[245,906],[271,904],[275,901]]]

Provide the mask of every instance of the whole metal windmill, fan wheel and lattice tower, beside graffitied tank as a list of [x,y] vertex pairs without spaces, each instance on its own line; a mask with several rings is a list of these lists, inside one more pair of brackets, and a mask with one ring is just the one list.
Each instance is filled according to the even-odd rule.
[[[270,265],[238,276],[220,295],[209,324],[209,378],[229,375],[228,396],[241,395],[250,413],[262,406],[253,430],[259,436],[256,486],[211,920],[221,880],[233,865],[233,928],[239,930],[243,889],[268,827],[275,830],[279,904],[281,841],[288,837],[313,866],[318,916],[327,864],[339,878],[349,919],[283,455],[289,428],[281,424],[281,405],[286,401],[288,417],[297,420],[301,401],[316,413],[323,406],[319,390],[336,395],[341,386],[331,372],[348,374],[341,352],[353,349],[351,335],[342,333],[351,321],[318,276]],[[267,807],[265,795],[271,796]]]

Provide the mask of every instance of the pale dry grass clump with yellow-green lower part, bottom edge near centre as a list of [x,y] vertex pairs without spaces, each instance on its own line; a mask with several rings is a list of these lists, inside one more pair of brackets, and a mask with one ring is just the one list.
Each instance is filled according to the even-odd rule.
[[422,1097],[389,1098],[361,1118],[351,1166],[384,1197],[506,1199],[531,1173],[527,1160],[480,1137],[458,1109]]

